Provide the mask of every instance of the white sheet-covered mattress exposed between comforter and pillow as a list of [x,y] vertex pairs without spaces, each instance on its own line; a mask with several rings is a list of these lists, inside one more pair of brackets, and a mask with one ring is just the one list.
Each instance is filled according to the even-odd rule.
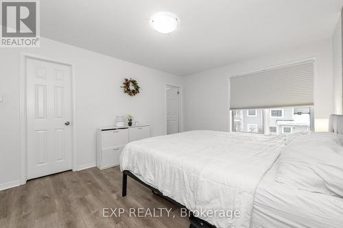
[[251,228],[342,228],[343,199],[276,182],[278,161],[255,192]]

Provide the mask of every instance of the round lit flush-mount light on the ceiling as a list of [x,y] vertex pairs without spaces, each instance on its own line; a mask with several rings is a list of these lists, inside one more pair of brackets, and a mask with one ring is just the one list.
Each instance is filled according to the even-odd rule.
[[178,27],[179,19],[171,12],[158,12],[150,18],[152,28],[161,34],[169,34]]

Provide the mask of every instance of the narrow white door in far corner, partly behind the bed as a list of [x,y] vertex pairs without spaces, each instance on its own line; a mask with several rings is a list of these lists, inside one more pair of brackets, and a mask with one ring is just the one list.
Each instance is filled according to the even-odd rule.
[[167,93],[167,134],[179,132],[179,88],[170,86],[166,88]]

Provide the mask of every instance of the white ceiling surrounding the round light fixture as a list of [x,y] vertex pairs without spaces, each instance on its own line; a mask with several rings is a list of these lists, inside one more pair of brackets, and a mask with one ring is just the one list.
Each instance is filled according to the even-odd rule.
[[[175,75],[329,38],[343,0],[43,0],[41,36]],[[158,34],[149,18],[178,15]]]

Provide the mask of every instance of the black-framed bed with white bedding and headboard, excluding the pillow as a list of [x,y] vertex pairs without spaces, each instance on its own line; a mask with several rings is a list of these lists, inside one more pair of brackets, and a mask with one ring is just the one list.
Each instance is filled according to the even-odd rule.
[[[342,134],[342,126],[342,116],[330,116],[332,132]],[[290,138],[301,137],[322,136]],[[193,212],[191,227],[341,227],[343,199],[335,195],[340,186],[329,186],[333,194],[321,194],[320,185],[319,192],[308,192],[282,183],[281,177],[276,181],[278,168],[289,160],[281,155],[289,147],[287,140],[285,136],[187,131],[131,142],[121,153],[123,196],[129,175]],[[285,168],[287,176],[292,168]],[[231,214],[222,216],[222,212]],[[233,216],[233,212],[239,213]]]

